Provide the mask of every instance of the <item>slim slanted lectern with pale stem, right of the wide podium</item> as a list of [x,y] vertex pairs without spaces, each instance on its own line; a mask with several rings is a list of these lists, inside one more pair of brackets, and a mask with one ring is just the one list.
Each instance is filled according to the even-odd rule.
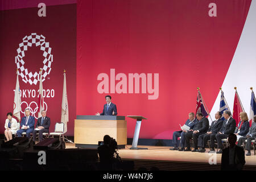
[[136,119],[136,126],[135,126],[135,131],[134,131],[134,137],[133,137],[133,144],[131,146],[131,150],[139,150],[139,149],[146,149],[147,148],[139,148],[137,147],[138,144],[138,139],[139,139],[139,130],[141,130],[141,121],[142,119],[147,119],[142,117],[141,115],[127,115],[129,118]]

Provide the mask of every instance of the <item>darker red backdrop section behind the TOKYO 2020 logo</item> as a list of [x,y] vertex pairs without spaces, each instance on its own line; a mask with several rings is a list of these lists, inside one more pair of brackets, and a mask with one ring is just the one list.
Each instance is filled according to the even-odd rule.
[[[50,131],[54,131],[56,122],[60,122],[61,101],[63,92],[63,70],[67,69],[67,93],[69,104],[68,135],[73,135],[73,120],[76,117],[76,4],[47,6],[46,17],[38,16],[38,7],[1,11],[0,30],[0,133],[4,133],[6,113],[13,112],[14,89],[16,84],[16,49],[23,42],[23,38],[31,33],[43,35],[49,47],[52,48],[53,62],[51,72],[43,81],[43,89],[46,90],[47,115],[51,118]],[[43,68],[43,51],[40,46],[28,47],[25,52],[24,68],[28,72],[38,72]],[[20,69],[19,69],[20,70]],[[30,85],[19,77],[22,101],[30,105],[38,102],[39,82]],[[33,91],[34,90],[34,91]],[[30,94],[28,94],[28,92]],[[36,96],[32,97],[32,92]],[[53,93],[54,92],[54,93]],[[24,93],[24,94],[23,94]],[[27,107],[22,104],[22,109]],[[31,110],[35,111],[36,105],[31,104]],[[24,114],[21,114],[24,116]],[[38,114],[35,114],[38,117]]]

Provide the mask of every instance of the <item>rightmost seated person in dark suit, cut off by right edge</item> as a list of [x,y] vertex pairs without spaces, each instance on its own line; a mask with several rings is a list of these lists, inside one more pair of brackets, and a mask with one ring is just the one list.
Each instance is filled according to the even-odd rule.
[[245,149],[248,151],[246,156],[251,155],[251,140],[254,140],[256,138],[256,115],[253,117],[253,123],[251,123],[251,127],[249,130],[249,133],[245,137],[241,137],[238,140],[238,146],[242,146],[243,142],[247,140]]

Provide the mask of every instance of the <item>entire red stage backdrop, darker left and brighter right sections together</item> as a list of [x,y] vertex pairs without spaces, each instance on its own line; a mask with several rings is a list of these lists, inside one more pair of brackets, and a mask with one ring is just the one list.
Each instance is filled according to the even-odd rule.
[[[68,135],[73,135],[76,115],[101,112],[105,95],[110,94],[118,115],[148,118],[142,123],[141,138],[172,139],[179,123],[196,109],[197,86],[208,109],[212,108],[251,0],[216,0],[216,17],[208,15],[209,3],[212,1],[78,0],[68,5],[46,3],[46,17],[37,15],[38,7],[1,11],[0,133],[6,113],[13,111],[16,49],[24,36],[35,32],[45,36],[52,48],[52,70],[43,82],[44,89],[55,92],[54,97],[45,98],[51,131],[60,121],[63,69],[67,69]],[[43,67],[42,53],[38,47],[28,48],[24,66],[38,71]],[[127,83],[126,89],[120,87],[127,93],[117,93],[120,80],[110,77],[110,69]],[[140,86],[139,93],[131,93],[129,73],[146,76],[143,84],[133,84],[133,89]],[[159,85],[154,99],[148,98],[152,95],[151,82],[147,82],[150,74],[152,85],[155,81]],[[109,77],[109,93],[98,90],[102,80],[97,78],[102,75]],[[39,89],[39,84],[25,84],[21,78],[19,82],[21,90]],[[115,86],[117,89],[110,89]],[[146,86],[145,93],[142,86]],[[27,96],[22,101],[29,104],[38,99]],[[128,138],[133,137],[134,127],[135,121],[127,118]]]

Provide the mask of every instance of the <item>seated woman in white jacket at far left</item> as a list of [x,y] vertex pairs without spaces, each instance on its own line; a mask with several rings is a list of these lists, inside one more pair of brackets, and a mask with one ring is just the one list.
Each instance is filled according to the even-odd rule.
[[16,134],[18,129],[18,123],[15,118],[13,118],[12,113],[7,113],[7,119],[5,120],[5,137],[7,141],[13,139],[13,134]]

